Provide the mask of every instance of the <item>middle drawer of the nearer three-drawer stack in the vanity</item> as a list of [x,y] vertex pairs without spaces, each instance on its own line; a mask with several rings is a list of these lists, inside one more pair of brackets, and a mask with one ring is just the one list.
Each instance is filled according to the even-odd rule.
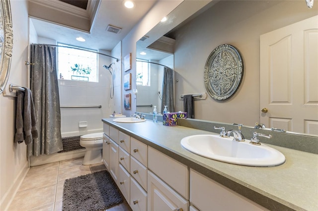
[[130,174],[147,190],[147,168],[133,157],[130,157]]

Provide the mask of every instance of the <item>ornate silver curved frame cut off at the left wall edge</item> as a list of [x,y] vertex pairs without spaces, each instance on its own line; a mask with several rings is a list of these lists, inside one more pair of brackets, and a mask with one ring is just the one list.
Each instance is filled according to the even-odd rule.
[[0,1],[0,94],[5,89],[11,66],[13,31],[10,0]]

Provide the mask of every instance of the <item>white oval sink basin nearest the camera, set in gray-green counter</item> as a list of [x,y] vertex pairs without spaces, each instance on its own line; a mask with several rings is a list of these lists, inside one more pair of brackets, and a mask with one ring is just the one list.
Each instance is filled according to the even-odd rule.
[[285,156],[271,147],[252,145],[249,140],[233,141],[233,137],[194,135],[183,138],[181,145],[199,156],[239,165],[277,166],[285,162]]

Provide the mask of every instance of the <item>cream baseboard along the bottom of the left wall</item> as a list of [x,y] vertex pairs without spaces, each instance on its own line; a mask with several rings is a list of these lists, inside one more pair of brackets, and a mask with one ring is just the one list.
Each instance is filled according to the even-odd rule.
[[8,191],[1,198],[1,202],[0,202],[0,210],[1,211],[7,211],[9,209],[9,206],[10,206],[16,192],[19,190],[19,187],[22,184],[23,179],[25,178],[28,171],[29,171],[29,163],[25,162],[19,175],[15,178],[14,182],[11,184]]

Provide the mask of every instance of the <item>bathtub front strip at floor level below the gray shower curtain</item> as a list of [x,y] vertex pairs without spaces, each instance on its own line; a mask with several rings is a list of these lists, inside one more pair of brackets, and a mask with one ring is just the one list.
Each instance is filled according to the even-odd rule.
[[84,157],[86,149],[75,150],[65,153],[55,153],[52,155],[41,155],[38,157],[30,157],[30,166],[42,165],[51,162],[57,162],[66,159],[72,158],[81,158]]

